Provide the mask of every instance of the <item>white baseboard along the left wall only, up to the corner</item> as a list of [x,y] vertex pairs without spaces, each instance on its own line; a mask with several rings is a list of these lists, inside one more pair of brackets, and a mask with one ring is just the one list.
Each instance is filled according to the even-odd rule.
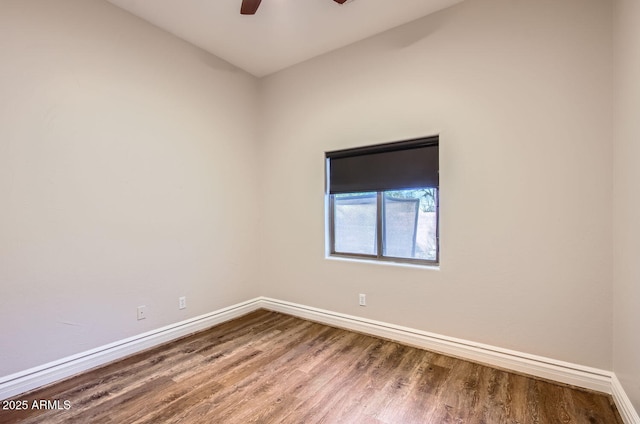
[[248,300],[38,367],[0,377],[0,400],[29,392],[162,343],[205,330],[222,322],[248,314],[259,307],[259,298]]

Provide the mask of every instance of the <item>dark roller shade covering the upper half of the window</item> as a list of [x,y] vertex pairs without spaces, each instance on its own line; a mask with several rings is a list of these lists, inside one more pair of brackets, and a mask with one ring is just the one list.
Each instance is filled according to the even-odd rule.
[[329,192],[438,187],[438,137],[328,152]]

